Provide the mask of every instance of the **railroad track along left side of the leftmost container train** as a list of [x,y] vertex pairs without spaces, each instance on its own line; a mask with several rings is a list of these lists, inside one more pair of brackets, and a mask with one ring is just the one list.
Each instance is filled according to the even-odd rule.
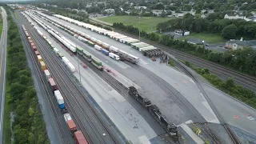
[[35,58],[34,53],[30,49],[30,43],[27,42],[27,40],[26,40],[26,34],[24,34],[24,32],[23,32],[23,30],[22,30],[22,28],[21,28],[21,26],[19,24],[18,24],[18,29],[19,29],[20,34],[22,34],[21,35],[22,38],[24,38],[24,41],[26,42],[26,43],[23,43],[24,49],[26,49],[26,47],[28,48],[28,54],[30,54],[30,58],[32,60],[32,63],[35,66],[35,70],[36,70],[35,72],[38,75],[38,78],[40,79],[40,83],[42,84],[42,89],[44,91],[44,94],[46,96],[47,101],[50,104],[50,110],[53,111],[54,119],[55,119],[54,122],[58,126],[58,132],[59,132],[59,134],[61,134],[62,142],[66,143],[66,144],[72,144],[74,142],[71,142],[70,139],[67,138],[68,137],[67,135],[70,135],[70,133],[66,134],[66,130],[64,130],[64,126],[61,125],[61,123],[62,123],[61,118],[62,117],[58,117],[58,113],[60,113],[59,109],[56,109],[56,107],[54,106],[54,102],[56,102],[56,100],[52,96],[53,94],[50,91],[48,83],[46,82],[46,78],[44,78],[44,76],[42,74],[42,70],[41,70],[40,66],[38,66],[37,58]]

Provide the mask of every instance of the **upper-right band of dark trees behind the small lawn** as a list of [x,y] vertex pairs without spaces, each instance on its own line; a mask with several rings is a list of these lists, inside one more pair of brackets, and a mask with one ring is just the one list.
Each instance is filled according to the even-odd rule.
[[[218,19],[218,15],[209,15],[210,18],[194,18],[191,14],[184,15],[183,18],[173,18],[167,22],[157,25],[157,30],[179,29],[190,30],[194,33],[209,32],[222,34],[225,39],[233,38],[256,38],[256,23],[246,22],[243,19],[230,20]],[[217,18],[217,19],[215,19]]]

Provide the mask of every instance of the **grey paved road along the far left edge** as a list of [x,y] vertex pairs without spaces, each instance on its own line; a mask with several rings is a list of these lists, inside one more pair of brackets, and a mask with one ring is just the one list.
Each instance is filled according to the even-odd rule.
[[6,10],[2,9],[2,36],[0,40],[0,143],[2,143],[2,127],[3,127],[3,113],[5,103],[5,86],[6,86],[6,36],[7,36],[7,19]]

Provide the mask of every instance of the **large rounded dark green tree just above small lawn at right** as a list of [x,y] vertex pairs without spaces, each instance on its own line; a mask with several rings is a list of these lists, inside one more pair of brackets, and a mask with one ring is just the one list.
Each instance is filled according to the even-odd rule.
[[229,26],[225,26],[222,30],[222,37],[226,39],[232,39],[235,38],[237,34],[238,27],[234,24],[231,24]]

